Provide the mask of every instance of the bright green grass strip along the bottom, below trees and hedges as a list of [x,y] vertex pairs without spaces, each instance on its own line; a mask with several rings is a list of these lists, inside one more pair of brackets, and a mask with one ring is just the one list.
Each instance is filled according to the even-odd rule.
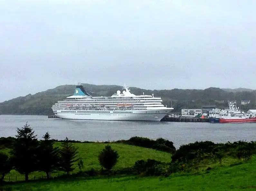
[[[117,177],[117,178],[76,178],[66,180],[51,180],[43,182],[17,183],[5,186],[12,190],[38,191],[151,191],[151,190],[185,190],[185,191],[240,191],[256,188],[256,156],[250,161],[230,166],[215,165],[209,173],[199,171],[199,174],[173,174],[170,177]],[[254,188],[254,189],[253,189]]]

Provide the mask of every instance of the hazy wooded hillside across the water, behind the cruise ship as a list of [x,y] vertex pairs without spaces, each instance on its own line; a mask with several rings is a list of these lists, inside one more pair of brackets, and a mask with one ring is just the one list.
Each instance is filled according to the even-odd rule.
[[[91,85],[83,84],[84,88],[92,96],[110,96],[121,86],[116,85]],[[72,95],[75,85],[62,85],[53,89],[48,89],[34,95],[28,94],[23,97],[17,97],[0,103],[0,114],[19,114],[19,115],[47,115],[52,113],[51,106],[58,100]],[[146,90],[137,87],[130,87],[132,93],[141,95],[143,92],[147,95],[160,96],[163,104],[175,108],[174,112],[180,112],[182,108],[201,108],[203,105],[216,105],[226,107],[227,100],[251,100],[250,105],[242,106],[242,109],[255,108],[256,92],[228,92],[220,88],[210,87],[201,89],[172,89],[172,90]],[[240,105],[238,105],[240,106]]]

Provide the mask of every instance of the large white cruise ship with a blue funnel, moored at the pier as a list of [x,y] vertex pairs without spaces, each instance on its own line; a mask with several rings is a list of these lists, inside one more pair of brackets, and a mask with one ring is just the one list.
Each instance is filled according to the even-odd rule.
[[161,97],[134,95],[124,85],[111,96],[94,97],[78,83],[73,95],[52,105],[54,115],[76,120],[160,121],[174,108],[162,104]]

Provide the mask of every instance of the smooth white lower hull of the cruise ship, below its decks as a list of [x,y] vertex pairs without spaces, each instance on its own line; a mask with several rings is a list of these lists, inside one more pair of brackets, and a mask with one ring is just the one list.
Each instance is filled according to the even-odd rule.
[[[93,112],[93,111],[90,111]],[[95,111],[96,112],[96,111]],[[97,111],[99,112],[99,111]],[[160,121],[170,111],[165,110],[144,110],[144,111],[132,111],[132,113],[62,113],[57,112],[55,115],[62,119],[73,120],[123,120],[123,121]]]

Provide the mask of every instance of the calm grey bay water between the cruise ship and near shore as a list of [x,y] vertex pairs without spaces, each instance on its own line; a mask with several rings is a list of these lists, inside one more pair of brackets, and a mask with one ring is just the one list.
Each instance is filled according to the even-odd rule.
[[54,139],[113,141],[142,136],[173,141],[176,147],[195,141],[256,140],[256,123],[143,122],[48,119],[38,115],[0,115],[0,137],[14,137],[26,121],[41,139],[48,131]]

